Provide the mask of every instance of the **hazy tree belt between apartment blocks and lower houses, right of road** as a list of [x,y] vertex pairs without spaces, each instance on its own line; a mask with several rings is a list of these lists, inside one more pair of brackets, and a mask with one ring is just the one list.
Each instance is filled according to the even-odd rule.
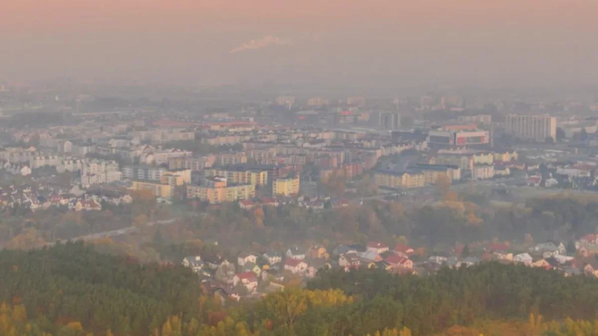
[[[530,198],[525,207],[492,207],[481,193],[463,193],[432,205],[404,207],[396,201],[368,201],[342,209],[313,212],[296,206],[239,209],[222,204],[205,209],[205,216],[181,222],[188,235],[213,237],[227,246],[252,242],[298,243],[326,239],[337,243],[382,240],[392,246],[393,236],[405,236],[411,245],[450,250],[456,243],[509,241],[513,245],[567,243],[593,233],[598,227],[598,199],[588,196]],[[199,208],[201,206],[198,206]],[[177,236],[165,235],[169,243]]]

